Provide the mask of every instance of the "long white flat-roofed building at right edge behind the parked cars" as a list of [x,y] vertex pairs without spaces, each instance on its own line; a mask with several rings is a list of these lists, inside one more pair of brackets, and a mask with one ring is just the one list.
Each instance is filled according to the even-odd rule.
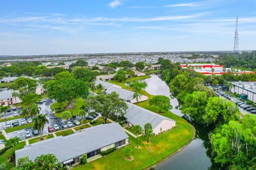
[[256,103],[256,82],[231,82],[229,90]]

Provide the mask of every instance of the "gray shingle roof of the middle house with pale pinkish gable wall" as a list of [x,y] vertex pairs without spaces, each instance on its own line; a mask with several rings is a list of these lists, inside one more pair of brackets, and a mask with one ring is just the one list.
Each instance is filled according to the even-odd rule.
[[146,123],[150,123],[154,129],[163,120],[174,121],[171,118],[156,114],[137,105],[133,105],[131,103],[126,104],[128,105],[129,109],[124,117],[127,118],[127,121],[133,125],[139,124],[142,129]]

